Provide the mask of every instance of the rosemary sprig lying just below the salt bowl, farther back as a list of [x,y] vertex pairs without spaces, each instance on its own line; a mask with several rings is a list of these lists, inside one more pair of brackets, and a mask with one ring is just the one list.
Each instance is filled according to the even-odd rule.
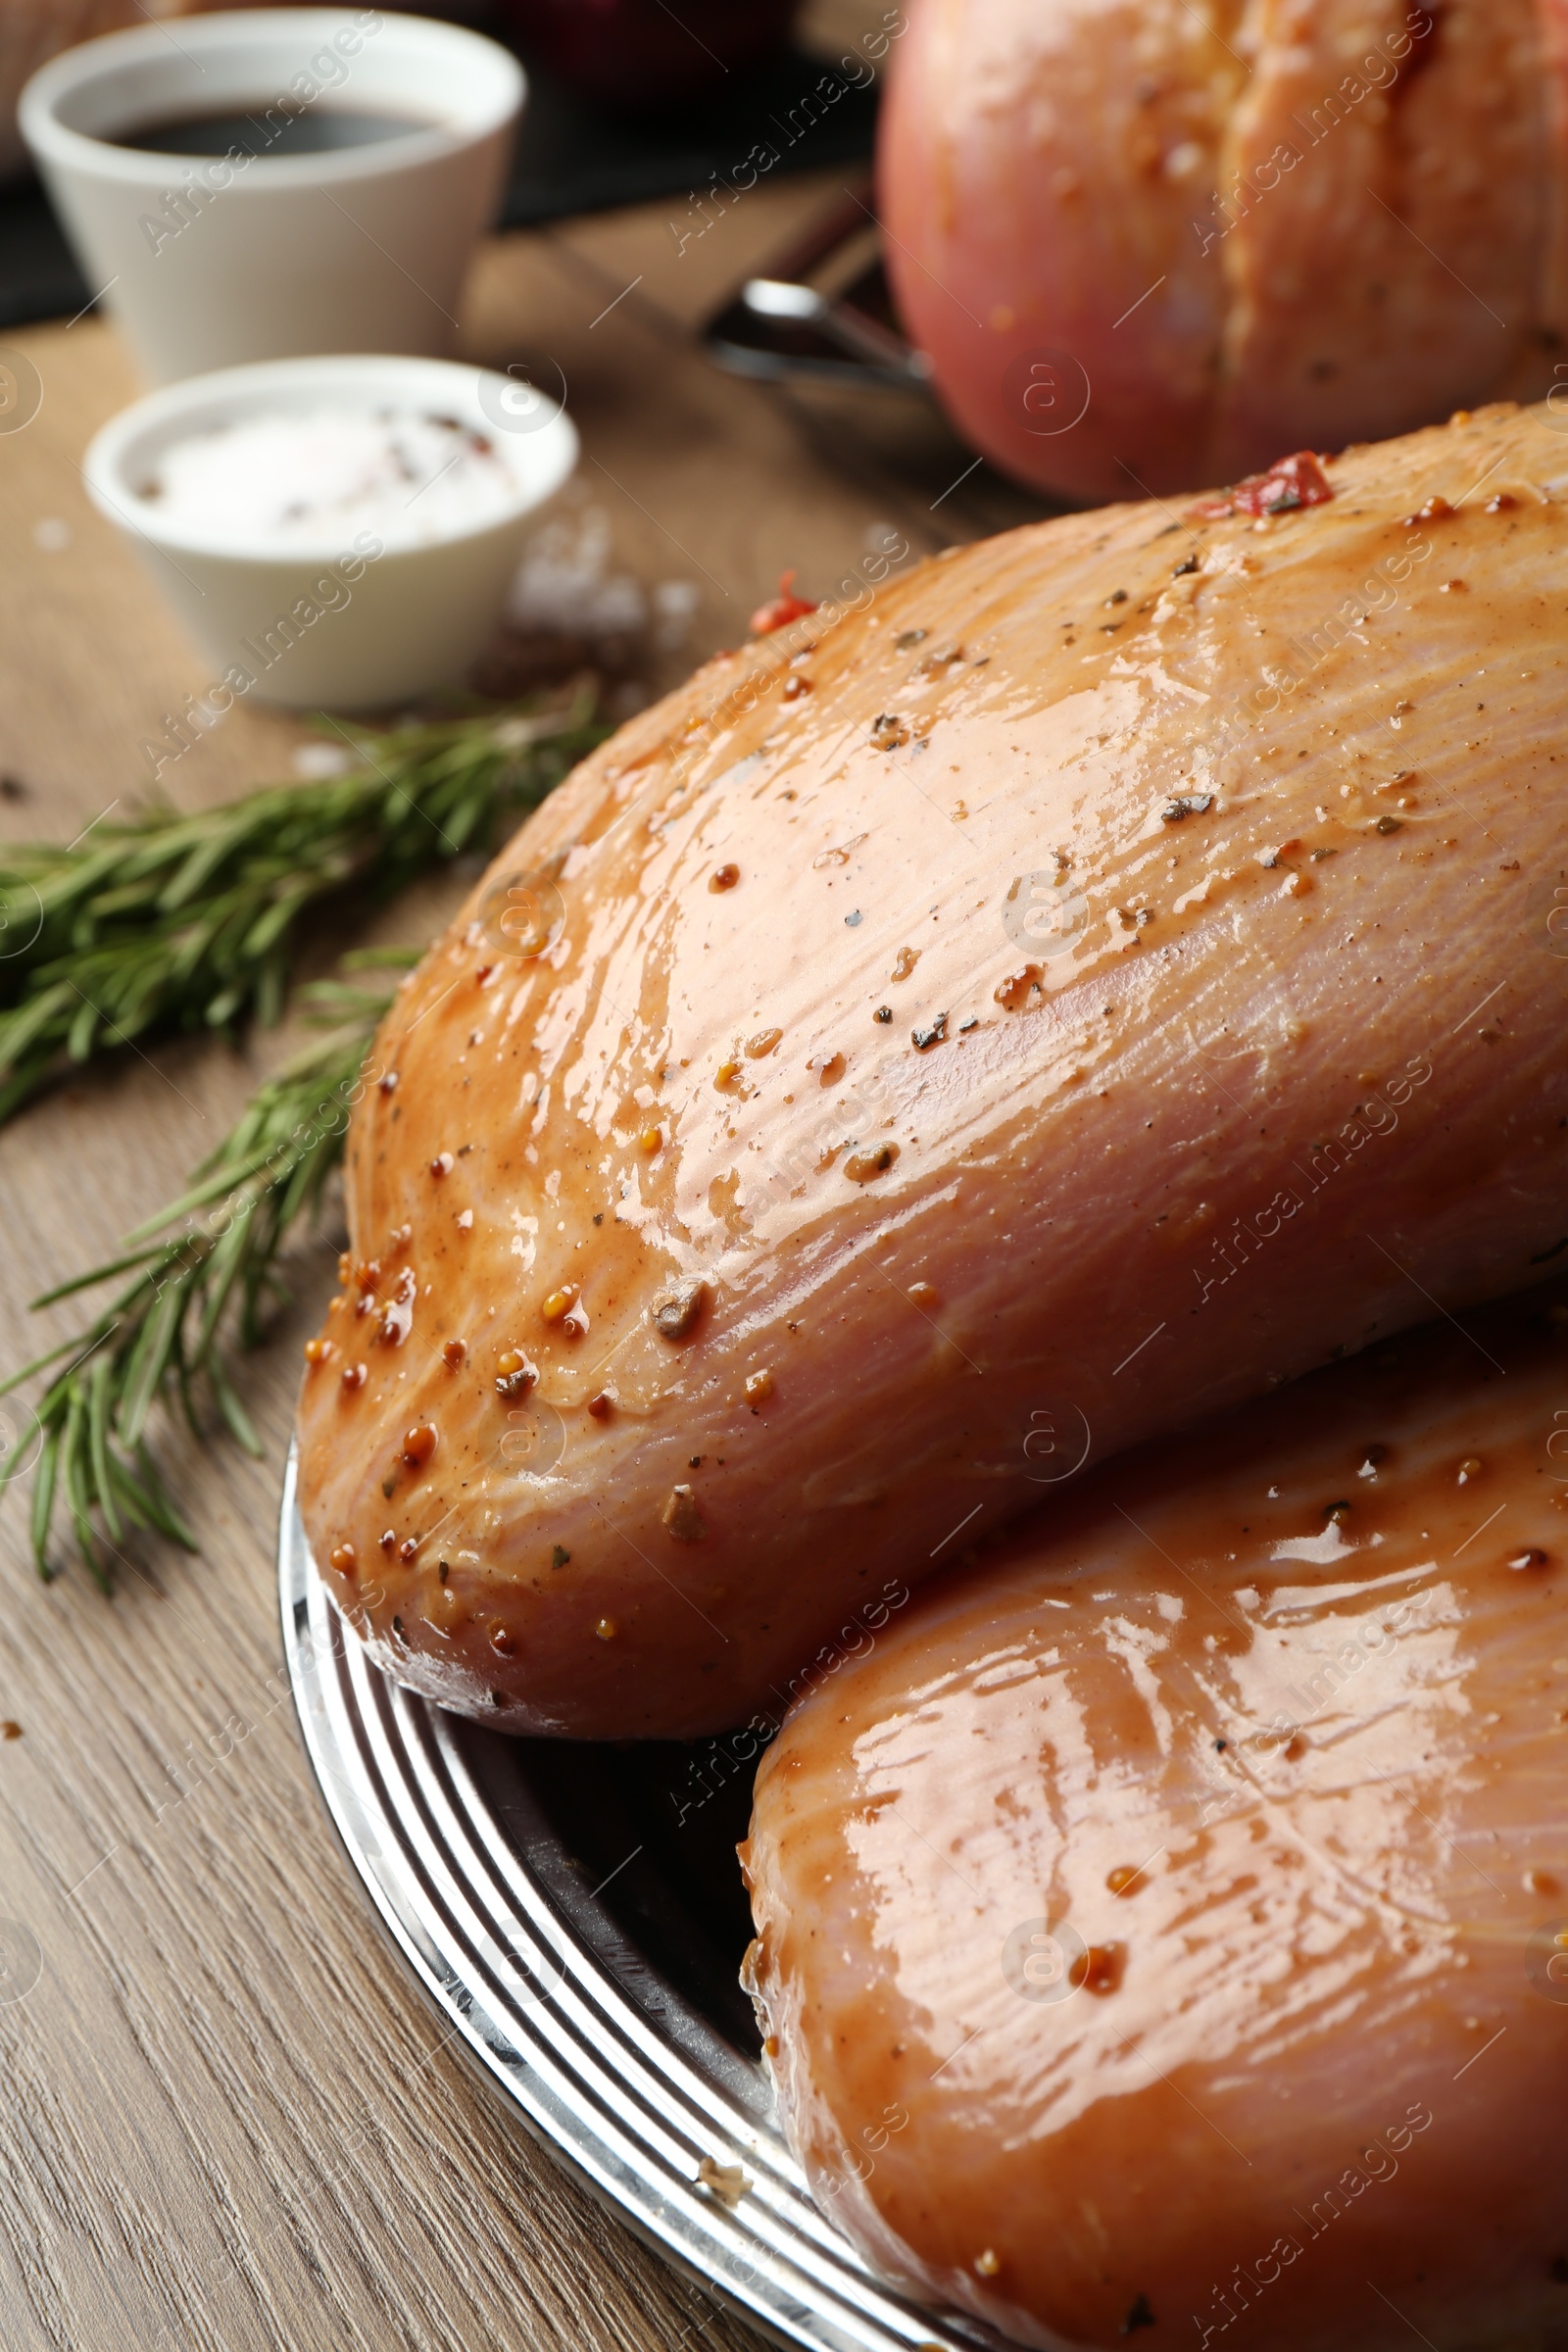
[[386,898],[552,790],[604,729],[569,706],[388,731],[336,727],[350,774],[221,809],[0,849],[0,1120],[68,1061],[176,1028],[282,1014],[301,915]]

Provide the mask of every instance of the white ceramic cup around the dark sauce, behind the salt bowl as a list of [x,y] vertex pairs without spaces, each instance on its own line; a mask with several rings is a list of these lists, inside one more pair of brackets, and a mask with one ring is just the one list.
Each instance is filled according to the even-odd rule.
[[[449,348],[524,99],[515,56],[376,7],[106,33],[26,85],[21,134],[78,261],[153,383],[313,350]],[[115,146],[188,115],[416,118],[364,146],[240,162]]]

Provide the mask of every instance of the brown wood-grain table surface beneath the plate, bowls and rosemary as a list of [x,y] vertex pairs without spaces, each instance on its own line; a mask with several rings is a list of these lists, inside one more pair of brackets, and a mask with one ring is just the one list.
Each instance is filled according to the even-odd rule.
[[[1037,510],[985,468],[952,489],[971,456],[917,397],[795,395],[703,360],[703,315],[837,195],[839,174],[762,183],[684,249],[684,202],[482,249],[463,350],[548,353],[585,449],[548,522],[567,569],[491,677],[592,661],[625,713],[738,642],[788,564],[820,595],[889,527],[926,553]],[[42,407],[0,437],[0,828],[71,840],[148,793],[141,746],[205,673],[78,473],[136,393],[110,327],[14,343]],[[162,790],[195,807],[289,776],[306,741],[237,706]],[[416,891],[378,936],[421,938],[449,903]],[[7,1367],[80,1324],[28,1301],[169,1200],[287,1042],[127,1051],[0,1131]],[[42,1585],[26,1494],[0,1505],[0,1717],[21,1726],[0,1743],[0,2340],[755,2345],[440,2046],[320,1811],[273,1534],[339,1242],[294,1258],[296,1303],[247,1367],[266,1461],[158,1425],[200,1559],[143,1545],[110,1602],[80,1569]]]

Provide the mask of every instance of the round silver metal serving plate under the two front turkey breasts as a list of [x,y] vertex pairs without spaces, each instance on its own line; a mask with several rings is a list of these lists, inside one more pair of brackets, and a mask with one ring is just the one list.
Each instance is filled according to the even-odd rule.
[[[529,2131],[778,2343],[1001,2347],[889,2291],[785,2147],[736,1980],[750,1764],[724,1778],[717,1740],[503,1738],[388,1682],[343,1637],[294,1484],[289,1456],[282,1639],[322,1799],[393,1943]],[[750,2180],[733,2211],[703,2157]]]

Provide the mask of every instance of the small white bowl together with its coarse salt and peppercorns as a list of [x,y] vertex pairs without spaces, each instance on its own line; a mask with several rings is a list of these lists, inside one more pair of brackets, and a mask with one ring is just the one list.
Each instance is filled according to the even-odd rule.
[[200,647],[200,703],[369,710],[468,670],[576,454],[527,379],[324,358],[150,393],[82,473]]

